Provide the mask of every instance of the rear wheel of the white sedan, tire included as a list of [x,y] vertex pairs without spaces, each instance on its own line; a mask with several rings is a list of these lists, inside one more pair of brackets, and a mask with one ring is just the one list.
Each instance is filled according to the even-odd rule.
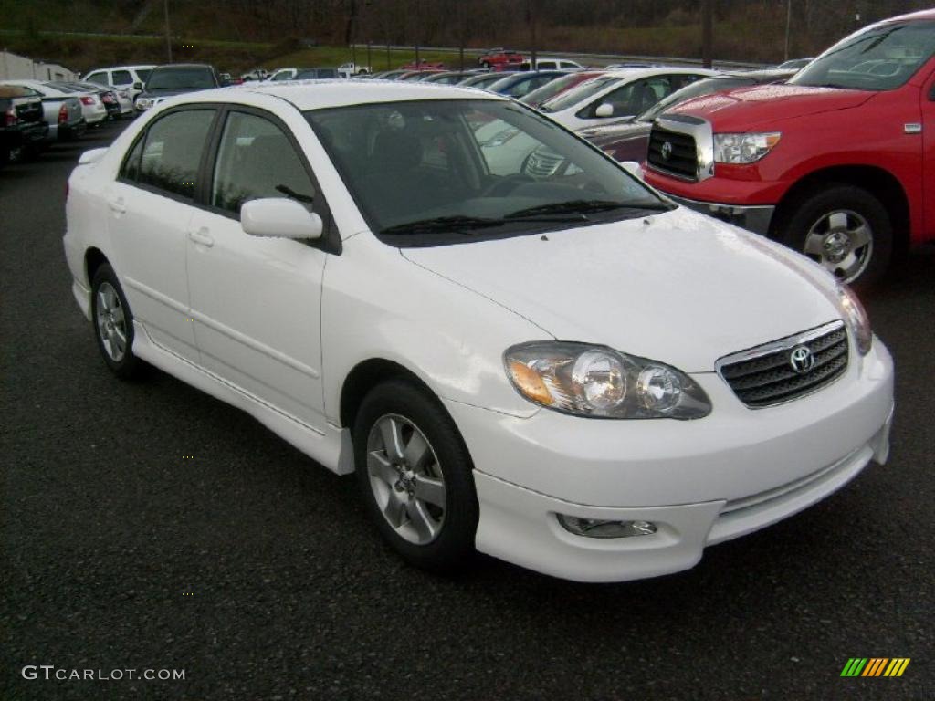
[[94,272],[91,323],[97,348],[110,371],[120,379],[137,377],[142,364],[133,353],[133,313],[117,275],[106,263]]

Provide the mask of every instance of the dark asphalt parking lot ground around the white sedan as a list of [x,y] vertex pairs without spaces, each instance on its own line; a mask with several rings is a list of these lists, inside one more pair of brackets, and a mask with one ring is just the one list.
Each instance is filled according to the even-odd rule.
[[[61,236],[69,171],[120,128],[0,170],[0,699],[935,697],[935,247],[865,299],[898,373],[887,465],[682,574],[439,579],[352,479],[176,379],[108,373]],[[841,679],[851,657],[912,662]]]

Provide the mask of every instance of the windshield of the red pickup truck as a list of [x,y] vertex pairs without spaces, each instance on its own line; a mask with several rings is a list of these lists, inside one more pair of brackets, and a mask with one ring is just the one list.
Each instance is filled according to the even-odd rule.
[[935,50],[935,21],[889,22],[848,36],[789,80],[791,85],[893,90]]

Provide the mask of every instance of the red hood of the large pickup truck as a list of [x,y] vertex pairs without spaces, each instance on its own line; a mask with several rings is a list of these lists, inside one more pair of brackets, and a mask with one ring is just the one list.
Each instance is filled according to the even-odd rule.
[[703,95],[668,110],[703,117],[717,132],[749,132],[758,125],[859,107],[874,93],[804,85],[755,85]]

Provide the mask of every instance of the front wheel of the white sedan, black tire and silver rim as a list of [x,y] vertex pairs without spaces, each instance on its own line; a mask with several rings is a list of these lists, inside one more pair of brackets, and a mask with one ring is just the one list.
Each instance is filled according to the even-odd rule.
[[478,503],[468,449],[438,399],[394,379],[364,398],[353,427],[361,494],[383,539],[439,572],[474,553]]

